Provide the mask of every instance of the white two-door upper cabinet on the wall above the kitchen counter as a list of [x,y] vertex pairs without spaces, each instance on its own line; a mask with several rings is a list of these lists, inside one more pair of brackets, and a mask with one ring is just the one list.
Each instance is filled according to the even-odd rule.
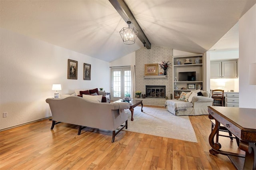
[[211,79],[238,78],[237,60],[211,61]]

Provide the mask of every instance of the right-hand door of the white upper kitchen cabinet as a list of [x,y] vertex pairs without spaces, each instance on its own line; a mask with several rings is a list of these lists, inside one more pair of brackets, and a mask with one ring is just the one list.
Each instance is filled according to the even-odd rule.
[[237,78],[237,61],[222,61],[222,78]]

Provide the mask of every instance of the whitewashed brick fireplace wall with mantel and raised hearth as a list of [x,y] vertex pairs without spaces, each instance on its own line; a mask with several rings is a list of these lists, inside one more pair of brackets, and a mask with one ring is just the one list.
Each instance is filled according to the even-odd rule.
[[[166,101],[165,96],[167,96],[168,99],[170,99],[170,94],[172,92],[172,66],[168,68],[166,77],[145,77],[144,71],[145,64],[161,63],[162,61],[172,62],[172,49],[168,47],[151,45],[151,49],[146,49],[142,47],[136,50],[135,55],[135,90],[139,90],[142,92],[142,94],[145,94],[147,96],[146,85],[165,86],[164,97],[147,96],[145,99],[142,99],[142,97],[140,97],[140,99],[143,100],[144,105],[164,106],[164,103]],[[159,67],[158,73],[160,72],[164,73],[164,70],[160,69]]]

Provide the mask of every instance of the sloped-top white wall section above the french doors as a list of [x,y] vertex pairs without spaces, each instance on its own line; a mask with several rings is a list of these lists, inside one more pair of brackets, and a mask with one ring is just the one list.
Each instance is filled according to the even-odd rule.
[[110,63],[110,67],[135,65],[135,51]]

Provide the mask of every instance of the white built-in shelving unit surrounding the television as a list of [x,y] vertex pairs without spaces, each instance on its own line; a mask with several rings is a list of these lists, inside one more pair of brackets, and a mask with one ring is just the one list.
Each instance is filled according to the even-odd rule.
[[[179,98],[182,91],[193,91],[198,89],[200,85],[203,89],[203,71],[204,61],[203,54],[198,55],[179,55],[172,57],[172,78],[173,78],[173,94],[174,98]],[[186,62],[189,59],[189,62]],[[197,60],[197,62],[196,62]],[[180,62],[180,64],[178,64]],[[196,79],[194,81],[180,81],[179,72],[196,71]],[[189,87],[188,87],[189,85]],[[177,95],[179,94],[179,95]],[[176,96],[177,95],[177,96]]]

